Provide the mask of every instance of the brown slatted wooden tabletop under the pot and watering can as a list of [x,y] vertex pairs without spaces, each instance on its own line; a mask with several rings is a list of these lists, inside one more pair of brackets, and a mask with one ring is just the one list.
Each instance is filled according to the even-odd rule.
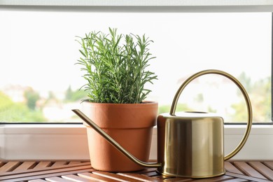
[[109,173],[92,169],[88,161],[2,161],[0,181],[273,181],[273,160],[225,162],[226,174],[210,179],[162,176],[155,169],[134,173]]

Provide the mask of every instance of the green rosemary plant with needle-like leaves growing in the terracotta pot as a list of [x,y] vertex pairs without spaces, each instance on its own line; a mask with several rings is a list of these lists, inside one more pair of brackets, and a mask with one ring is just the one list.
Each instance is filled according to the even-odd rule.
[[[151,40],[145,35],[117,34],[109,28],[109,34],[92,31],[78,37],[83,55],[77,64],[85,72],[83,85],[90,102],[137,104],[151,92],[144,87],[157,79],[147,71],[151,56],[148,45]],[[82,87],[82,88],[83,88]]]

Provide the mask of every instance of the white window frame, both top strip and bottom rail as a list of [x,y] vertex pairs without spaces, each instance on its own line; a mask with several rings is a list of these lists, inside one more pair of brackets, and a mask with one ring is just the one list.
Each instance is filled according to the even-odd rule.
[[[1,1],[0,10],[96,12],[273,12],[269,1]],[[273,42],[273,41],[272,41]],[[272,51],[273,54],[273,51]],[[272,71],[273,72],[273,71]],[[273,100],[273,99],[272,99]],[[273,111],[272,111],[273,112]],[[246,125],[225,125],[225,153],[239,143]],[[156,159],[156,128],[151,159]],[[269,160],[273,151],[273,125],[253,125],[237,160]],[[266,148],[266,150],[265,150]],[[72,150],[71,150],[72,149]],[[0,124],[0,160],[88,160],[82,124]]]

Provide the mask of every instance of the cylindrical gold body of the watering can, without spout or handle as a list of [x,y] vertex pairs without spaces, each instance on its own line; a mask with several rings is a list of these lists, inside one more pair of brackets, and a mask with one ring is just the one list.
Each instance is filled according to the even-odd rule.
[[167,176],[207,178],[225,173],[223,118],[210,113],[158,117],[158,171]]

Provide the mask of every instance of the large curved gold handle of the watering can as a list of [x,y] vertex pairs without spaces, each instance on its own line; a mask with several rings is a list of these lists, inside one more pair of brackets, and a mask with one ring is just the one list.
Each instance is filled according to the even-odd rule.
[[225,155],[224,160],[229,160],[230,158],[232,158],[234,155],[236,155],[241,148],[244,146],[244,144],[246,144],[246,139],[248,138],[248,135],[251,131],[251,125],[252,125],[252,109],[251,109],[251,102],[250,99],[248,97],[248,94],[246,92],[246,90],[244,89],[243,85],[241,85],[241,83],[239,83],[239,80],[237,80],[235,77],[231,76],[229,73],[225,73],[224,71],[220,71],[220,70],[216,70],[216,69],[208,69],[208,70],[204,70],[204,71],[200,71],[198,73],[195,73],[193,76],[190,76],[182,85],[181,87],[179,87],[179,90],[177,90],[175,96],[174,96],[174,100],[172,102],[172,107],[171,107],[171,111],[169,112],[169,114],[171,116],[175,116],[175,111],[176,111],[176,105],[177,102],[179,100],[180,94],[181,92],[184,90],[184,88],[195,78],[202,76],[202,75],[206,75],[206,74],[218,74],[221,76],[225,76],[227,78],[229,78],[230,80],[232,80],[241,90],[242,94],[244,95],[244,99],[246,101],[246,106],[247,106],[247,112],[248,112],[248,123],[246,125],[246,132],[244,132],[244,137],[241,139],[239,145],[235,148],[234,151],[232,151],[231,153],[229,153],[228,155]]

